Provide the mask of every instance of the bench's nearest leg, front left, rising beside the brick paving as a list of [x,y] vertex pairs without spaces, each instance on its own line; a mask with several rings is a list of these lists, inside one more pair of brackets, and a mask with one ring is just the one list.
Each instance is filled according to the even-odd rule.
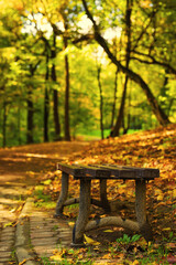
[[91,180],[80,179],[79,214],[73,231],[72,246],[84,246],[84,233],[90,212]]

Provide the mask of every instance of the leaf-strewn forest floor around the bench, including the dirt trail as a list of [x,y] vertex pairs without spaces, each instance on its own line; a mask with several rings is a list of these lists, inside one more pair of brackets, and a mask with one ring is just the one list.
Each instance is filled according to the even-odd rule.
[[[114,261],[113,264],[176,264],[176,125],[89,144],[52,142],[0,149],[0,181],[14,182],[16,178],[19,183],[35,186],[32,190],[37,206],[51,208],[48,211],[52,211],[61,190],[61,172],[56,170],[58,161],[158,168],[161,177],[147,184],[147,213],[154,243],[146,244],[143,237],[134,237],[121,229],[107,227],[86,234],[90,246],[87,250],[59,250],[53,258],[63,261],[63,264],[69,264],[64,263],[68,257],[70,264],[81,264],[80,261],[91,264],[97,256],[112,263]],[[91,192],[95,198],[99,197],[97,181],[94,181]],[[78,181],[72,180],[69,195],[75,198],[78,193]],[[110,180],[108,198],[125,205],[133,204],[133,181],[123,183]],[[130,206],[130,210],[121,209],[118,214],[133,219],[134,208]],[[69,225],[73,225],[78,206],[67,206],[64,213]],[[101,210],[92,208],[90,218],[105,215]]]

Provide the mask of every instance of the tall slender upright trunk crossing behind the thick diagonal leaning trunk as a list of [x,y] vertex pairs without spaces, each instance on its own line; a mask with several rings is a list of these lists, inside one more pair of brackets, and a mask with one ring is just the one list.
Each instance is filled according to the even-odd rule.
[[[132,1],[133,0],[127,0],[127,13],[125,13],[125,23],[127,23],[127,51],[125,51],[125,67],[129,68],[130,64],[130,51],[131,51],[131,12],[132,12]],[[117,119],[117,123],[114,125],[113,134],[112,136],[119,136],[120,134],[120,127],[123,120],[124,115],[124,106],[125,106],[125,97],[127,97],[127,91],[128,91],[128,82],[129,76],[125,74],[125,81],[124,81],[124,87],[122,93],[122,99],[121,105],[119,109],[119,116]]]

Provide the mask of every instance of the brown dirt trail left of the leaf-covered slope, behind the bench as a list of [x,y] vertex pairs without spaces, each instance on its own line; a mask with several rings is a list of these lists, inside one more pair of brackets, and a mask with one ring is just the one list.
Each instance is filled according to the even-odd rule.
[[15,222],[23,198],[56,162],[66,161],[88,142],[51,142],[0,149],[0,225]]

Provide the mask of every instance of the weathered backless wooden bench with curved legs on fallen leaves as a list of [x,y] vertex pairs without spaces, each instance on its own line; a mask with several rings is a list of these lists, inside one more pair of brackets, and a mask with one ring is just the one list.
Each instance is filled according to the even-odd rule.
[[[89,230],[107,225],[121,226],[141,233],[146,241],[152,241],[152,230],[146,216],[146,182],[160,177],[158,169],[123,167],[114,165],[65,165],[58,163],[62,171],[62,191],[57,201],[55,216],[62,215],[64,206],[79,202],[79,214],[73,230],[73,246],[84,245],[84,233]],[[80,194],[78,199],[68,199],[69,174],[80,180]],[[100,181],[100,201],[91,199],[91,180]],[[135,181],[135,213],[136,221],[121,216],[107,216],[95,221],[88,221],[90,204],[102,206],[110,211],[110,202],[107,199],[107,180],[134,180]]]

